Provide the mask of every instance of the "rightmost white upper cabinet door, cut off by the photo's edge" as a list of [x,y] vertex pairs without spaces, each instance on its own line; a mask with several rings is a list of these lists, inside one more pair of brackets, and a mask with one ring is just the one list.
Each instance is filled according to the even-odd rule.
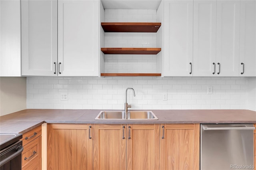
[[256,1],[241,1],[240,6],[239,75],[256,76]]

